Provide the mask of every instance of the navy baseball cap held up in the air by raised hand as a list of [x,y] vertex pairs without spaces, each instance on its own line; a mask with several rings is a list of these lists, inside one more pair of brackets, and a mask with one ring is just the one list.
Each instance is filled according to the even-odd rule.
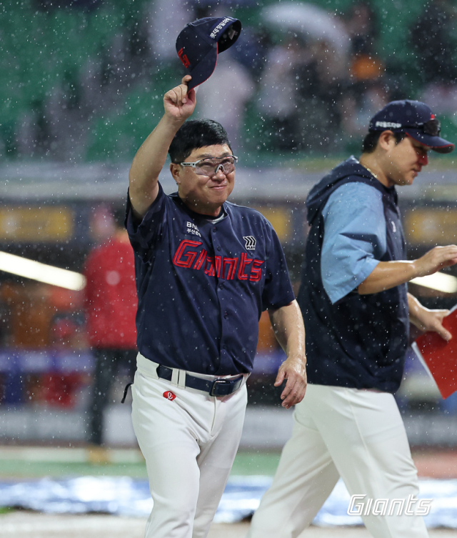
[[176,39],[176,52],[192,76],[189,89],[209,79],[217,55],[229,49],[241,34],[241,21],[233,17],[205,17],[189,22]]

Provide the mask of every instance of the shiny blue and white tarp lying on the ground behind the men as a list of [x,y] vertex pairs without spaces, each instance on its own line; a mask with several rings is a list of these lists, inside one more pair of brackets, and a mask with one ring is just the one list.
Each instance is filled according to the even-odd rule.
[[[426,516],[427,527],[457,529],[457,479],[420,480],[419,499],[433,499]],[[238,522],[258,507],[271,477],[231,477],[216,514],[216,522]],[[361,517],[348,515],[350,496],[338,482],[313,523],[359,525]],[[64,480],[0,482],[0,506],[21,507],[48,514],[105,512],[148,517],[152,508],[146,480],[130,477],[78,477]]]

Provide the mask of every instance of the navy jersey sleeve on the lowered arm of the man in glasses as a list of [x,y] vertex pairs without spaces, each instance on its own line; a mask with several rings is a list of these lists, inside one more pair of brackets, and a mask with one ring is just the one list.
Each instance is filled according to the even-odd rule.
[[283,248],[276,231],[268,221],[267,231],[268,249],[265,286],[262,293],[263,310],[284,307],[295,299]]

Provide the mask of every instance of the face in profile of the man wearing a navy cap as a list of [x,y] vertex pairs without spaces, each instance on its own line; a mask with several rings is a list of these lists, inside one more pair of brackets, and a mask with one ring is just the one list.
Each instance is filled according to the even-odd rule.
[[406,135],[405,138],[395,143],[391,136],[389,148],[384,160],[384,173],[390,186],[411,185],[422,166],[428,164],[428,146]]

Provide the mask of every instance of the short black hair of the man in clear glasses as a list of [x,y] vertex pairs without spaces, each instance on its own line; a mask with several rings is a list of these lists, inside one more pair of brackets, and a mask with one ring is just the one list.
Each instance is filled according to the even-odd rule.
[[205,146],[229,146],[229,135],[221,124],[214,119],[189,119],[178,129],[171,141],[169,155],[171,162],[180,163],[197,148]]

